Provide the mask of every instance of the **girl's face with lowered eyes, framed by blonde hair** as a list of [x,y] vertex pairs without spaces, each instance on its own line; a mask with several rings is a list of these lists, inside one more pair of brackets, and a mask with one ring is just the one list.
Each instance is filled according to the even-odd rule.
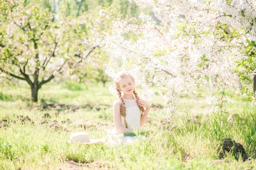
[[134,82],[129,76],[119,80],[120,91],[124,94],[132,94],[134,92]]

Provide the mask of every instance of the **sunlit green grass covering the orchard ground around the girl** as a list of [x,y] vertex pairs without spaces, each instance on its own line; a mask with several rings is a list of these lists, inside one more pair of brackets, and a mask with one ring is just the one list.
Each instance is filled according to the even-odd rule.
[[[65,84],[45,85],[39,91],[39,103],[59,103],[80,106],[76,112],[42,111],[30,109],[35,106],[29,101],[28,86],[13,86],[2,89],[0,99],[0,120],[11,121],[9,127],[0,128],[0,169],[68,169],[68,163],[82,163],[85,169],[255,169],[256,168],[256,109],[250,101],[237,98],[227,105],[227,113],[212,113],[204,116],[207,93],[194,101],[190,97],[180,98],[177,117],[173,126],[164,122],[164,109],[151,109],[143,131],[151,130],[149,142],[137,141],[127,146],[108,146],[106,144],[84,145],[68,143],[71,133],[86,131],[91,139],[105,138],[105,129],[113,129],[112,105],[116,96],[101,85],[88,88],[70,89]],[[138,88],[138,93],[141,93]],[[157,92],[157,88],[154,88]],[[11,97],[10,97],[11,96]],[[149,103],[164,105],[157,95]],[[87,104],[110,105],[100,111],[84,108]],[[102,106],[103,107],[103,106]],[[103,107],[104,108],[104,107]],[[43,116],[48,124],[41,125]],[[241,119],[228,116],[237,113]],[[13,114],[28,116],[31,122],[21,122]],[[197,115],[197,120],[191,117]],[[70,122],[92,125],[87,130]],[[64,130],[52,130],[49,125],[57,121]],[[15,122],[14,122],[15,121]],[[62,122],[65,121],[65,122]],[[162,121],[162,122],[161,122]],[[32,123],[33,122],[33,123]],[[249,161],[236,161],[232,156],[218,160],[218,147],[225,137],[230,137],[244,146]],[[183,161],[182,158],[190,159]]]

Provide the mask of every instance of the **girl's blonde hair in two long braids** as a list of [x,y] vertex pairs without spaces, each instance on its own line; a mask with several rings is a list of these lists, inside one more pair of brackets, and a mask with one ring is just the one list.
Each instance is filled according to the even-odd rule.
[[[121,91],[119,90],[120,89],[119,80],[126,76],[130,77],[131,81],[135,84],[134,77],[127,71],[121,71],[121,72],[117,73],[116,77],[114,78],[115,89],[118,94],[119,105],[120,105],[120,115],[124,117],[124,120],[126,117],[125,101],[122,98]],[[137,92],[135,91],[135,88],[134,88],[133,94],[134,94],[136,101],[140,99]],[[143,113],[145,112],[145,108],[143,106],[139,106],[139,108],[140,108],[140,111],[142,112],[142,114],[140,115],[140,118],[141,118]],[[128,124],[127,124],[126,120],[125,120],[125,127],[128,128]]]

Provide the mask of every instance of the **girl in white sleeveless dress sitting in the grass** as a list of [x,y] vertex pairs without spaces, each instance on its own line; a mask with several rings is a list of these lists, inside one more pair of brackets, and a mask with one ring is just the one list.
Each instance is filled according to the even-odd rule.
[[[134,88],[134,77],[130,73],[119,72],[114,79],[114,84],[119,98],[113,105],[116,132],[140,132],[140,127],[148,117],[150,105],[138,96]],[[140,137],[145,138],[143,135]],[[130,143],[136,139],[136,136],[125,136],[122,143]]]

